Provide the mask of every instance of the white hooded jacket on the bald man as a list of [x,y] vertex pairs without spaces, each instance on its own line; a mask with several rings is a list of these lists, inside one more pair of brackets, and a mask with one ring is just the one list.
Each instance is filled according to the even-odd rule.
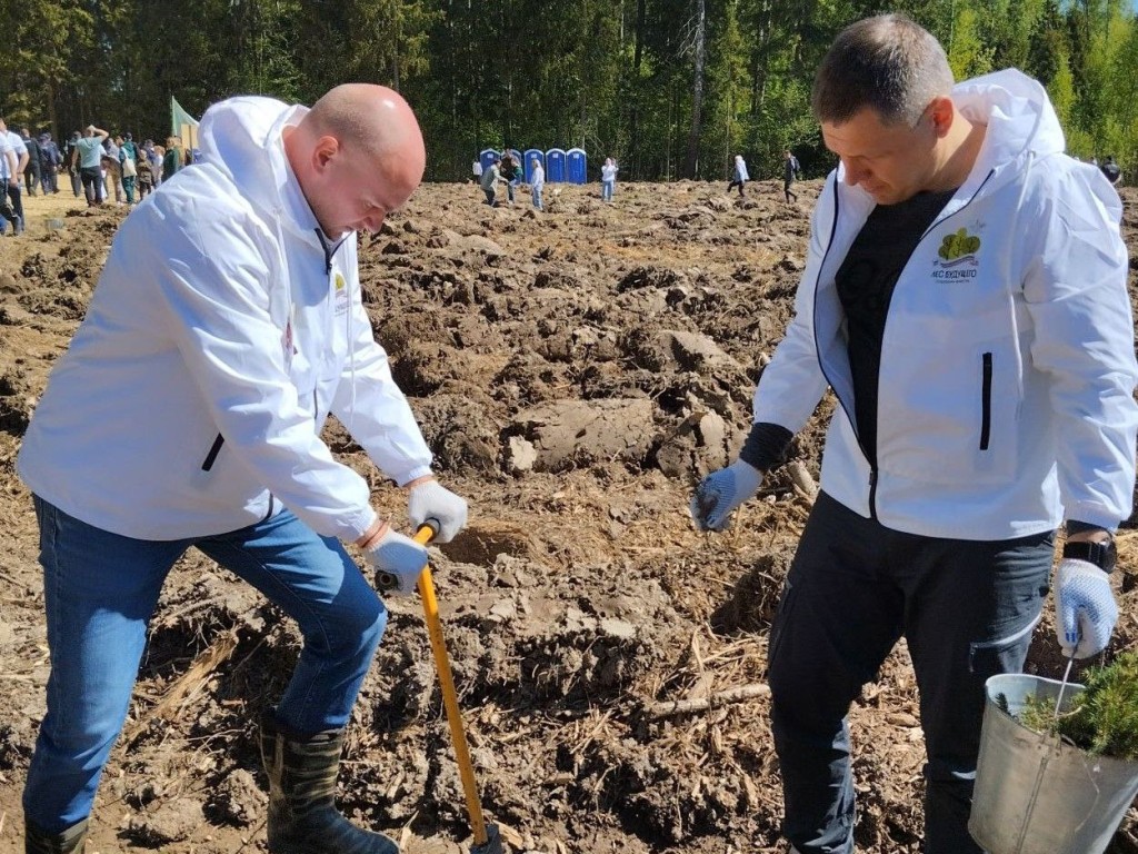
[[355,540],[366,482],[320,438],[329,412],[401,485],[430,452],[363,309],[355,233],[327,245],[284,157],[304,107],[233,98],[201,157],[123,222],[51,375],[18,470],[44,500],[143,540],[292,510]]

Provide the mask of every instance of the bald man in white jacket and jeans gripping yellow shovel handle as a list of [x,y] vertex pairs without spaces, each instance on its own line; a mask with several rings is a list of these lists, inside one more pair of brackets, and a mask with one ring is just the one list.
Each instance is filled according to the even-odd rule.
[[356,232],[422,179],[419,124],[394,91],[349,84],[311,109],[234,98],[201,157],[126,219],[18,460],[41,531],[51,678],[24,791],[28,852],[82,849],[126,716],[147,622],[189,548],[295,619],[304,648],[261,720],[269,851],[390,854],[332,794],[344,728],[387,622],[344,543],[391,593],[427,551],[371,506],[321,441],[335,414],[446,542],[467,504],[372,338]]

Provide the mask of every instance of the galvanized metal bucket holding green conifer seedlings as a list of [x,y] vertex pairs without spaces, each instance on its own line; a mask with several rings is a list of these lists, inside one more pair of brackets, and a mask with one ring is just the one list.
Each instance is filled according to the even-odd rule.
[[[1138,762],[1091,756],[1012,716],[1029,697],[1054,700],[1061,684],[1017,673],[984,683],[968,832],[989,854],[1103,854],[1138,795]],[[1082,690],[1067,683],[1061,711]]]

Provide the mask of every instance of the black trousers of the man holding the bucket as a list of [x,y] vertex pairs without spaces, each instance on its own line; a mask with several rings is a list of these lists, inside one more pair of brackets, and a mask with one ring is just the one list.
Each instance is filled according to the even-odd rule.
[[783,834],[801,854],[853,851],[846,715],[901,637],[921,692],[925,854],[981,854],[967,823],[984,681],[1022,670],[1054,542],[1053,532],[993,542],[905,534],[819,494],[769,651]]

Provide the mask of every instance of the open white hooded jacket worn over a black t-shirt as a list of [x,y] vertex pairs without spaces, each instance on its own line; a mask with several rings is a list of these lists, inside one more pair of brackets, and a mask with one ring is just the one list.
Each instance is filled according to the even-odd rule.
[[1005,71],[953,99],[988,125],[976,164],[905,266],[885,323],[877,469],[853,419],[834,276],[874,203],[831,173],[797,315],[756,388],[754,420],[797,433],[840,402],[822,488],[896,531],[1006,540],[1131,511],[1138,380],[1118,195],[1063,154],[1047,93]]

